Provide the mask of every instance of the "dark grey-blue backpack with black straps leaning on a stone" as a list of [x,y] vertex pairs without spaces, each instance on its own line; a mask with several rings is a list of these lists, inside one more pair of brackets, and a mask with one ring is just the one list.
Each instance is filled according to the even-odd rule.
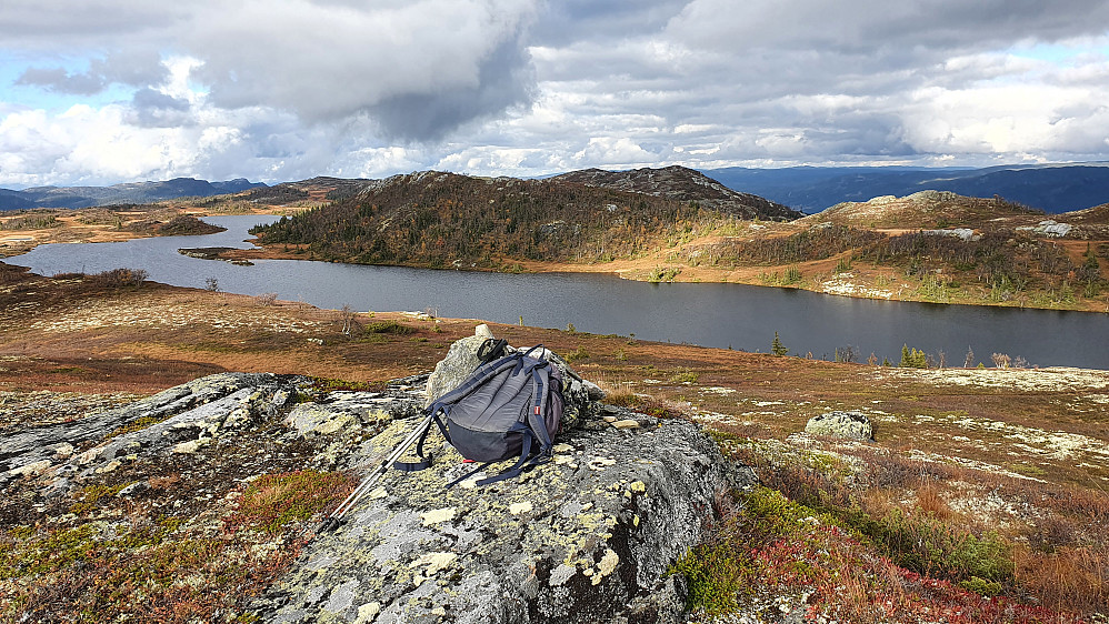
[[[454,390],[424,407],[447,442],[467,460],[483,462],[470,473],[456,479],[451,487],[493,462],[519,457],[504,472],[478,481],[487,485],[519,476],[531,467],[550,461],[554,436],[561,429],[562,373],[532,352],[516,352],[481,364]],[[416,452],[419,462],[397,462],[404,472],[423,470],[433,456],[423,454],[430,424],[420,435]]]

